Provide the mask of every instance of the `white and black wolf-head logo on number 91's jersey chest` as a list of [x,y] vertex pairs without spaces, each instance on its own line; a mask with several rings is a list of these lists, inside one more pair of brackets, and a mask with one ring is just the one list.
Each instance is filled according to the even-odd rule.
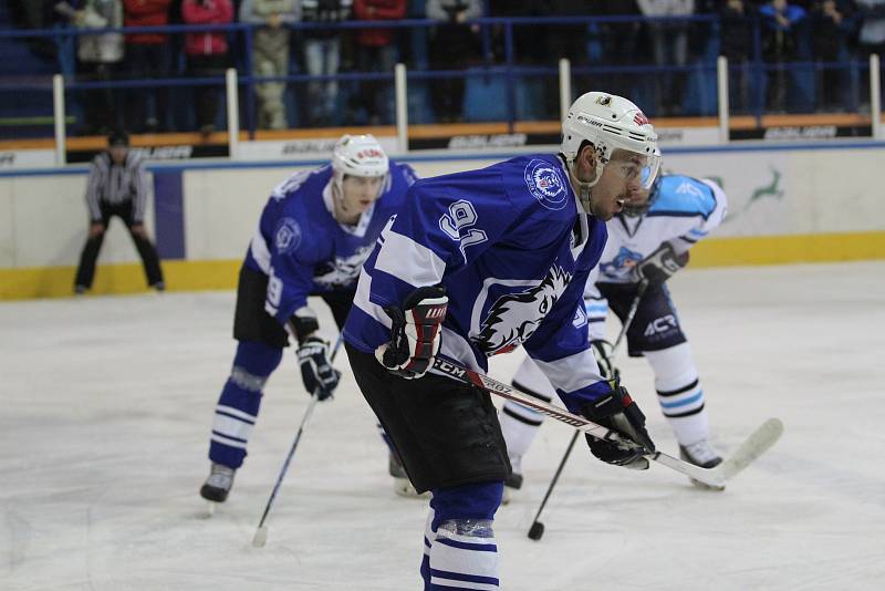
[[571,280],[571,273],[554,265],[538,286],[498,298],[482,322],[479,349],[491,356],[528,340]]

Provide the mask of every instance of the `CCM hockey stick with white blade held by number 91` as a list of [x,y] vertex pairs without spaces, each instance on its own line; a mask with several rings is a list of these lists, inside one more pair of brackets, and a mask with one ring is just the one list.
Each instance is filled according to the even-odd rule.
[[695,466],[688,462],[683,462],[681,459],[669,456],[663,452],[647,452],[637,443],[623,438],[616,431],[597,425],[596,423],[593,423],[583,416],[574,415],[548,402],[538,400],[531,394],[527,394],[521,390],[504,384],[503,382],[493,380],[486,374],[469,370],[455,361],[437,356],[434,361],[434,370],[466,384],[472,384],[490,394],[494,394],[496,396],[500,396],[502,398],[519,403],[523,406],[528,406],[538,413],[555,418],[556,421],[565,423],[566,425],[571,425],[581,433],[586,433],[597,439],[618,442],[627,448],[641,450],[643,452],[643,456],[649,462],[656,462],[675,471],[678,471],[679,474],[710,486],[721,486],[725,484],[728,478],[738,474],[738,471],[743,469],[743,467],[746,467],[749,463],[761,456],[766,449],[771,447],[774,442],[778,440],[783,432],[783,424],[781,424],[779,419],[769,418],[761,427],[753,432],[753,434],[747,440],[743,442],[740,450],[743,450],[745,455],[740,458],[735,458],[733,462],[729,464],[729,466],[731,466],[730,468],[723,468],[723,465],[726,464],[725,462],[715,468],[701,468],[700,466]]

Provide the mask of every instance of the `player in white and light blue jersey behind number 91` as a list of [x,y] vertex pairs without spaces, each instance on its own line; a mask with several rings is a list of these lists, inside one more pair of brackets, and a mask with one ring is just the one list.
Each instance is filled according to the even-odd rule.
[[[707,468],[721,462],[709,443],[704,390],[691,351],[665,281],[688,262],[689,249],[726,215],[722,189],[708,179],[664,175],[652,190],[631,196],[624,210],[606,224],[608,241],[584,291],[590,339],[601,367],[611,367],[605,342],[608,308],[624,322],[643,281],[647,281],[626,338],[631,356],[645,356],[655,374],[664,416],[676,434],[683,459]],[[553,388],[527,359],[513,385],[550,401]],[[501,413],[513,474],[508,486],[522,484],[521,460],[543,416],[508,401]]]

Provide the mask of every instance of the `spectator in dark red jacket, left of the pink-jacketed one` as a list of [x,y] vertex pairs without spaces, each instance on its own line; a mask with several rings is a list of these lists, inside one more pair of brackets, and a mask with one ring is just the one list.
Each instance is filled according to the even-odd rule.
[[[123,0],[125,27],[165,27],[169,23],[171,0]],[[169,77],[169,39],[163,33],[133,33],[126,35],[126,68],[137,80]],[[153,98],[153,112],[148,111]],[[135,131],[156,132],[166,128],[168,120],[168,90],[146,86],[129,92],[127,105],[128,127]]]

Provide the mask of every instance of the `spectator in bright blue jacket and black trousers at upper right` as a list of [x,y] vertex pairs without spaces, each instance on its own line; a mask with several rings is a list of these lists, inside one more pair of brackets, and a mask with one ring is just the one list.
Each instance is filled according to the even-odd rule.
[[795,60],[796,29],[808,13],[787,0],[771,0],[759,9],[762,17],[762,58],[769,65],[767,103],[772,111],[787,107],[787,63]]

